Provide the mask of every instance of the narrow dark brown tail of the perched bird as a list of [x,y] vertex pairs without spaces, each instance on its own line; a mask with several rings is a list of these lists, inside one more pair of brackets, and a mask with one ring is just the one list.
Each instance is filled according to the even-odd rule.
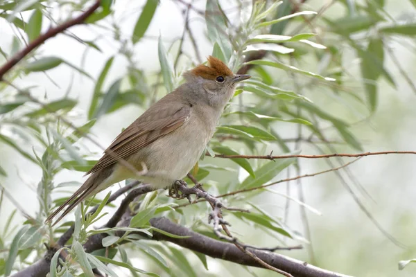
[[76,205],[80,204],[80,202],[83,202],[83,200],[94,195],[95,193],[98,193],[99,190],[97,190],[97,188],[101,184],[101,181],[102,180],[101,178],[99,178],[99,175],[97,174],[91,175],[87,179],[87,181],[85,181],[83,186],[78,188],[78,190],[76,190],[76,192],[73,193],[73,195],[69,197],[69,199],[67,199],[67,201],[65,201],[64,204],[62,204],[59,208],[56,209],[56,211],[54,211],[51,215],[49,215],[48,218],[46,218],[45,223],[51,222],[53,217],[58,215],[58,213],[60,213],[65,207],[67,207],[65,211],[62,213],[62,215],[58,217],[58,220],[55,220],[55,222],[53,222],[52,226],[57,224],[60,220],[62,220],[62,218],[65,215],[67,215],[70,211],[72,211],[72,209],[75,208]]

